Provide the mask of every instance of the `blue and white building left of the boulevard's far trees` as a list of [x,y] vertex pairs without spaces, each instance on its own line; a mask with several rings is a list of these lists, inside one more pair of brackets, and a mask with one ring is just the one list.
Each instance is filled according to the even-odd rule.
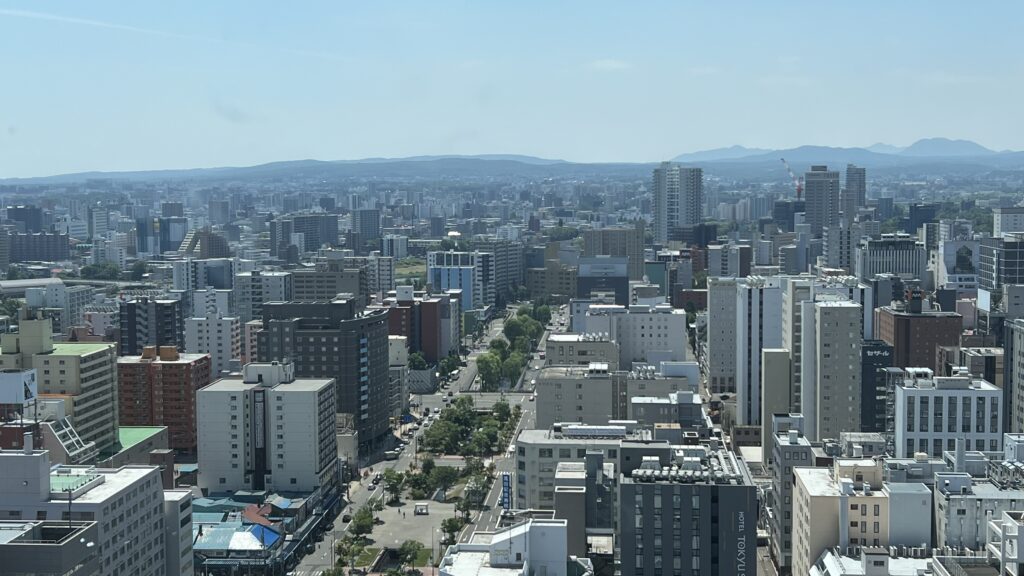
[[495,255],[489,252],[427,252],[427,283],[434,291],[462,290],[462,310],[495,305]]

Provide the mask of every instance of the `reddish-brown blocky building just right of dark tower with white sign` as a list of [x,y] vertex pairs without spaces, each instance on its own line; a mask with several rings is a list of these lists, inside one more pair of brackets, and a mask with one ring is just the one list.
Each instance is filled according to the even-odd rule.
[[938,346],[958,346],[963,318],[954,312],[925,312],[921,292],[906,302],[874,310],[877,336],[893,347],[893,366],[937,366]]

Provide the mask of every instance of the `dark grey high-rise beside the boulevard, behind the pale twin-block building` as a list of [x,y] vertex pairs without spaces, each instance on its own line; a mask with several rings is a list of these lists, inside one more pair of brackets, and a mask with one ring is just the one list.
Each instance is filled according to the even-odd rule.
[[389,437],[388,312],[356,313],[352,300],[267,302],[257,334],[259,362],[295,363],[296,376],[333,378],[338,412],[349,414],[360,451]]

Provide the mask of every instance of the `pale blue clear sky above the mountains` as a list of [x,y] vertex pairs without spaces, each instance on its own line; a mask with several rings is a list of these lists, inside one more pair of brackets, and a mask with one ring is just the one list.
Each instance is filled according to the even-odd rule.
[[1024,149],[1024,3],[0,0],[0,178]]

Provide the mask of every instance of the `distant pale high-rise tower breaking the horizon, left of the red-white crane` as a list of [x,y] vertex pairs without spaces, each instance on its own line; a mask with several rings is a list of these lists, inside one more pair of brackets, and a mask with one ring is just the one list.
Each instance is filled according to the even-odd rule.
[[675,229],[700,223],[703,170],[663,162],[654,168],[654,241],[668,242]]

